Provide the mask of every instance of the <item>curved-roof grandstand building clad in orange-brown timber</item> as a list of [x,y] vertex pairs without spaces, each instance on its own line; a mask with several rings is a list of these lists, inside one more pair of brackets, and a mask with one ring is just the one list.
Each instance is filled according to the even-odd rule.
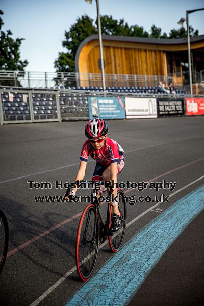
[[[199,79],[203,78],[204,71],[204,35],[191,37],[190,44],[193,83],[201,83]],[[187,38],[153,39],[104,35],[103,49],[107,75],[145,75],[149,79],[150,76],[159,75],[160,78],[166,79],[165,82],[171,78],[171,82],[176,86],[189,84]],[[80,74],[100,73],[98,59],[98,36],[92,35],[87,37],[78,48],[75,57],[76,71]],[[160,81],[164,82],[164,80]]]

